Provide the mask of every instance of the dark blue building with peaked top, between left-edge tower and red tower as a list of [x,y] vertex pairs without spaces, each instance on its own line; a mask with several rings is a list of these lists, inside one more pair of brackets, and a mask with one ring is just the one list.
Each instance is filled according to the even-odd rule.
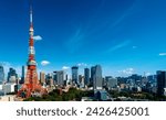
[[18,79],[17,70],[13,68],[9,68],[8,83],[17,83],[17,79]]

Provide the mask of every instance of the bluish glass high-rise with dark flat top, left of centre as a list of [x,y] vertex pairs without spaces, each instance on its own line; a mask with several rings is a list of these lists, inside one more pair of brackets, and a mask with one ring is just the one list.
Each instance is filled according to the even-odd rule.
[[72,67],[72,83],[74,85],[80,86],[80,83],[79,83],[79,67],[77,66]]

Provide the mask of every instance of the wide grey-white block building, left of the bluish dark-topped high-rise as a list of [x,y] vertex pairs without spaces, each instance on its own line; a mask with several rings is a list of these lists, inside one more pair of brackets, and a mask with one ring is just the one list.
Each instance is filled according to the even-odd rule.
[[63,70],[54,72],[54,81],[58,86],[64,86],[65,74]]

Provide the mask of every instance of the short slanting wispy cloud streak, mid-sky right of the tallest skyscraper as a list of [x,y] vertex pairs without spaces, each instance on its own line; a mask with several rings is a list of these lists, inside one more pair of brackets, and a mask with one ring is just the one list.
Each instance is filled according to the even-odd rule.
[[120,50],[120,48],[122,48],[122,47],[125,47],[125,46],[127,46],[127,45],[129,45],[129,44],[131,44],[131,41],[129,41],[129,40],[124,41],[124,42],[118,43],[118,44],[116,44],[115,46],[112,46],[111,48],[108,48],[108,52],[117,51],[117,50]]

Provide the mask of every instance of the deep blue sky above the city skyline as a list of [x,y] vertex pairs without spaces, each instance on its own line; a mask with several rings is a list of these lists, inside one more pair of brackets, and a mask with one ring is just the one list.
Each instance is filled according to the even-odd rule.
[[[104,75],[166,69],[165,0],[33,0],[38,70],[101,64]],[[0,0],[0,62],[28,59],[29,0]],[[45,61],[46,65],[41,65]],[[7,68],[6,68],[7,70]]]

